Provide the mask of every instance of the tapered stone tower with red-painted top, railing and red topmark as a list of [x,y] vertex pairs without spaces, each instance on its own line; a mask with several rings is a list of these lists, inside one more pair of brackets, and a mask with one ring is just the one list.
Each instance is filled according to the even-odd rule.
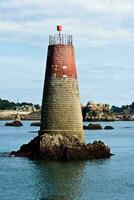
[[39,135],[76,135],[83,142],[83,123],[72,36],[49,36]]

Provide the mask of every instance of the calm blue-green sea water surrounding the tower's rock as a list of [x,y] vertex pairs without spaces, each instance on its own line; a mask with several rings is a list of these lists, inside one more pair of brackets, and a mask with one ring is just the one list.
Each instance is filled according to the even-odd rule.
[[0,200],[134,200],[134,122],[101,122],[115,129],[85,131],[86,142],[109,145],[110,159],[61,163],[8,156],[38,134],[30,123],[0,121]]

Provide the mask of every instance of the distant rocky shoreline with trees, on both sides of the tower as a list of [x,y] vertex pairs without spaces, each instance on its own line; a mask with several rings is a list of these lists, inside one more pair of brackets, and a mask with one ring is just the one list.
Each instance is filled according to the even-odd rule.
[[[81,105],[81,109],[84,122],[134,121],[134,102],[116,107],[88,101],[85,106]],[[39,121],[41,119],[41,106],[38,104],[15,103],[0,99],[0,120],[14,120],[17,112],[21,120]]]

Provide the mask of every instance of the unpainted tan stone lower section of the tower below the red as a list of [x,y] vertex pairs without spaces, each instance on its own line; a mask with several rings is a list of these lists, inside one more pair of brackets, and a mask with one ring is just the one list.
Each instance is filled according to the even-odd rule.
[[40,135],[77,135],[83,141],[83,123],[77,81],[51,78],[47,86]]

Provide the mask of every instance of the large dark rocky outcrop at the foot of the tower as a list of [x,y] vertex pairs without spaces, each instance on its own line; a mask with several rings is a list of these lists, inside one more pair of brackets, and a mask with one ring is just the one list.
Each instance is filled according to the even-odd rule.
[[28,144],[22,145],[10,156],[22,156],[41,160],[88,160],[109,158],[110,149],[101,141],[92,144],[81,143],[77,136],[62,136],[45,134],[34,138]]

